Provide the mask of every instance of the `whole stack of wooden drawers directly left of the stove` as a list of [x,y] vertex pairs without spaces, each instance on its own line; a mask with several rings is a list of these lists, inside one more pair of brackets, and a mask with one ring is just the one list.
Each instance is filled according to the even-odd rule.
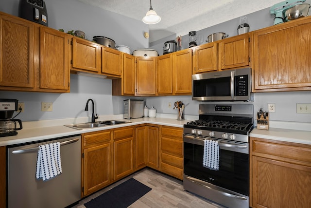
[[183,179],[183,128],[160,126],[160,171]]

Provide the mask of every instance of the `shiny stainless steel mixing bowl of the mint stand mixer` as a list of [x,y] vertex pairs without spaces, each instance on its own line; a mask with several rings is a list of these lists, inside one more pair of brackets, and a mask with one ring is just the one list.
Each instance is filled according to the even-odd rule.
[[303,3],[297,4],[289,9],[284,10],[282,12],[284,22],[302,17],[307,17],[309,14],[309,8],[310,8],[309,3]]

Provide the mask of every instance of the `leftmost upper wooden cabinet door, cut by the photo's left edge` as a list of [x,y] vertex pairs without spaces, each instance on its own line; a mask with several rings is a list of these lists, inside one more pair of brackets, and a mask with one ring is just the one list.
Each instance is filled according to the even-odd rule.
[[34,24],[0,14],[0,86],[34,88],[34,31]]

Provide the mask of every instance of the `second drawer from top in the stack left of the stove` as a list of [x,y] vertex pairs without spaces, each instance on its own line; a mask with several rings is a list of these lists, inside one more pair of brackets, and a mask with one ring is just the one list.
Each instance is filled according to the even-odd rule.
[[176,141],[171,138],[161,138],[161,152],[177,157],[183,157],[183,141]]

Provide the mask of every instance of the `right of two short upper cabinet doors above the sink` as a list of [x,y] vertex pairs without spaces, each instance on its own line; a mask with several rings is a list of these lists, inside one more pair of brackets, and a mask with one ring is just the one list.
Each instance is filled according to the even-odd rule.
[[102,73],[121,76],[122,53],[118,50],[102,47]]

